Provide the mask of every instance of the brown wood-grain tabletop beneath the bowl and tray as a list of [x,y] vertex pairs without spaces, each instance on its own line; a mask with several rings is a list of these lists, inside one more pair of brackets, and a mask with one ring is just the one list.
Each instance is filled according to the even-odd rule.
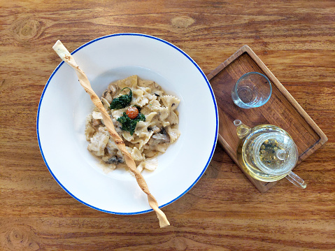
[[[17,1],[0,3],[0,250],[335,250],[334,1]],[[36,113],[60,59],[99,36],[136,32],[187,52],[208,74],[249,45],[328,142],[259,193],[220,145],[204,176],[164,213],[109,215],[50,175]],[[56,104],[57,105],[57,104]]]

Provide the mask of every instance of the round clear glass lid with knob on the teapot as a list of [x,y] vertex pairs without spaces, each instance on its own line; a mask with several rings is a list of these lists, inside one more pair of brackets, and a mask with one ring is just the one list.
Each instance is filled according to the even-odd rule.
[[290,172],[297,164],[297,145],[290,136],[271,132],[259,136],[255,140],[253,156],[256,166],[273,175],[283,175]]

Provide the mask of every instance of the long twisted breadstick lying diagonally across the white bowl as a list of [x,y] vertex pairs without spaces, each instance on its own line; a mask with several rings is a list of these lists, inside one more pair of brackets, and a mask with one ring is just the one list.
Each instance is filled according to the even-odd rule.
[[131,157],[129,152],[126,150],[126,146],[124,145],[124,142],[122,141],[122,138],[115,131],[115,127],[114,127],[114,124],[111,120],[111,117],[108,115],[106,109],[104,108],[104,106],[101,103],[101,100],[99,99],[97,94],[95,94],[95,92],[93,91],[93,89],[91,87],[91,84],[90,84],[90,81],[88,80],[87,76],[85,75],[83,70],[79,68],[76,61],[73,59],[72,55],[64,47],[64,45],[62,44],[61,41],[57,41],[55,43],[55,45],[52,46],[52,49],[54,49],[55,52],[57,52],[59,57],[64,62],[66,62],[66,64],[69,64],[69,66],[71,66],[76,71],[79,82],[80,82],[80,85],[82,87],[84,87],[85,91],[88,94],[90,94],[94,105],[97,106],[97,108],[99,108],[99,110],[101,111],[102,117],[104,119],[104,124],[106,125],[106,127],[109,131],[109,134],[111,134],[113,140],[115,141],[115,144],[121,150],[121,152],[124,154],[124,159],[126,161],[126,164],[129,167],[130,171],[132,173],[134,173],[138,185],[141,187],[143,192],[145,192],[145,194],[148,195],[149,205],[153,210],[155,210],[155,212],[157,214],[157,217],[158,217],[158,220],[159,220],[159,227],[169,226],[170,225],[169,221],[166,219],[166,216],[162,212],[162,210],[160,210],[158,208],[158,203],[157,203],[155,197],[152,196],[152,194],[150,194],[147,183],[145,182],[141,173],[137,171],[134,159]]

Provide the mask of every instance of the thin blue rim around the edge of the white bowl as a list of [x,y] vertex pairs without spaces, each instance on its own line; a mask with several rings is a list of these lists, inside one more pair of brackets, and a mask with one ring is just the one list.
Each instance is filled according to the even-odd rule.
[[[76,50],[73,50],[73,52],[71,52],[71,55],[75,54],[76,52],[78,52],[78,50],[81,50],[82,48],[84,48],[85,46],[87,45],[90,45],[91,43],[94,43],[96,41],[99,41],[101,39],[104,39],[104,38],[110,38],[110,37],[113,37],[113,36],[143,36],[145,38],[151,38],[151,39],[155,39],[157,41],[160,41],[162,43],[166,43],[166,45],[170,45],[172,48],[178,50],[178,52],[182,53],[185,57],[187,57],[187,59],[190,60],[190,62],[192,62],[192,64],[194,64],[194,66],[197,67],[198,71],[201,73],[201,75],[204,77],[204,80],[206,80],[206,83],[208,85],[208,88],[211,92],[211,95],[212,95],[212,98],[213,98],[213,103],[214,103],[214,107],[215,107],[215,119],[216,119],[216,128],[215,128],[215,138],[214,138],[214,142],[213,142],[213,148],[211,150],[211,155],[208,157],[208,161],[206,163],[206,165],[204,166],[204,169],[201,171],[200,175],[198,176],[198,178],[196,180],[194,180],[194,182],[192,183],[192,185],[190,185],[190,187],[188,187],[182,194],[180,194],[179,196],[177,196],[175,199],[169,201],[168,203],[165,203],[164,205],[162,206],[159,206],[159,208],[163,208],[164,206],[168,206],[169,204],[173,203],[174,201],[178,200],[180,197],[182,197],[184,194],[186,194],[188,191],[190,191],[190,189],[198,182],[198,180],[201,178],[202,175],[204,175],[204,172],[206,171],[206,168],[208,167],[209,163],[211,162],[211,159],[213,157],[213,154],[214,154],[214,150],[215,150],[215,146],[216,146],[216,143],[218,141],[218,126],[219,126],[219,120],[218,120],[218,106],[217,106],[217,103],[216,103],[216,100],[215,100],[215,96],[214,96],[214,93],[213,93],[213,89],[211,87],[211,84],[209,83],[208,79],[206,78],[204,72],[200,69],[200,67],[197,65],[196,62],[194,62],[194,60],[189,56],[187,55],[185,52],[183,52],[183,50],[180,50],[180,48],[176,47],[176,45],[173,45],[172,43],[169,43],[167,41],[164,41],[162,38],[157,38],[155,36],[150,36],[150,35],[145,35],[145,34],[137,34],[137,33],[120,33],[120,34],[111,34],[111,35],[107,35],[107,36],[101,36],[100,38],[96,38],[90,42],[87,42],[85,43],[84,45],[81,45],[79,48],[77,48]],[[66,187],[64,187],[64,185],[62,185],[61,182],[59,182],[59,180],[56,178],[55,174],[52,173],[51,169],[50,169],[50,166],[48,165],[48,162],[47,160],[45,159],[44,157],[44,154],[43,154],[43,150],[42,150],[42,146],[41,146],[41,139],[40,139],[40,136],[39,136],[39,133],[38,133],[38,122],[39,122],[39,114],[40,114],[40,108],[41,108],[41,103],[43,101],[43,96],[44,96],[44,93],[45,93],[45,90],[48,88],[48,85],[52,79],[52,77],[55,75],[55,73],[58,71],[58,69],[60,68],[60,66],[62,66],[62,64],[64,64],[64,61],[62,61],[58,66],[57,68],[55,69],[55,71],[53,71],[53,73],[51,74],[50,78],[48,79],[48,82],[46,83],[44,89],[43,89],[43,92],[41,94],[41,99],[38,103],[38,110],[37,110],[37,117],[36,117],[36,132],[37,132],[37,140],[38,140],[38,147],[40,148],[40,151],[41,151],[41,155],[43,157],[43,161],[45,163],[45,165],[48,167],[48,170],[50,171],[52,177],[57,181],[57,183],[68,193],[70,194],[74,199],[76,199],[77,201],[79,201],[80,203],[83,203],[85,206],[88,206],[90,208],[93,208],[93,209],[96,209],[96,210],[99,210],[101,212],[104,212],[104,213],[111,213],[111,214],[115,214],[115,215],[138,215],[138,214],[142,214],[142,213],[149,213],[149,212],[152,212],[153,210],[152,209],[148,209],[148,210],[143,210],[143,211],[139,211],[139,212],[133,212],[133,213],[120,213],[120,212],[113,212],[113,211],[108,211],[108,210],[104,210],[104,209],[101,209],[101,208],[97,208],[95,206],[92,206],[88,203],[86,203],[85,201],[82,201],[80,200],[79,198],[77,198],[76,196],[74,196],[73,194],[71,194],[71,192],[66,189]],[[155,196],[155,195],[154,195]]]

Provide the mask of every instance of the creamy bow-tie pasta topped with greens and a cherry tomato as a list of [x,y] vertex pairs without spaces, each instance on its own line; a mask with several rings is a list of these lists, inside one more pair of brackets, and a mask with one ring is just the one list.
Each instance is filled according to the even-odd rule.
[[[130,76],[108,85],[101,102],[138,171],[155,170],[157,155],[164,153],[180,136],[177,110],[180,100],[166,95],[154,81]],[[127,167],[97,108],[87,117],[85,135],[90,141],[87,149],[101,158],[108,170]]]

